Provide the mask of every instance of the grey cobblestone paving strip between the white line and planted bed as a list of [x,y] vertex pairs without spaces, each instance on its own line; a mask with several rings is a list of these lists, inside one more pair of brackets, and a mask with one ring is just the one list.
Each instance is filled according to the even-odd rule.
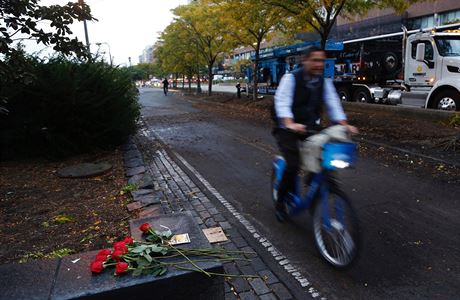
[[[164,146],[154,132],[142,128],[125,150],[125,169],[130,177],[128,182],[140,184],[140,189],[132,192],[134,202],[128,205],[129,210],[138,211],[139,217],[189,211],[202,229],[220,226],[224,230],[229,241],[215,246],[256,253],[250,257],[251,262],[224,264],[228,274],[260,276],[256,279],[226,278],[225,299],[306,299],[319,296],[311,288],[306,291],[301,287],[299,282],[303,279],[294,267],[281,267],[280,260],[289,263],[284,257],[261,253],[266,249],[257,247],[258,241],[252,237],[257,236],[257,233],[249,222],[244,217],[240,220],[234,218],[235,214],[228,211],[235,210],[233,206],[212,187],[205,187],[202,182],[197,185],[194,182],[196,179],[187,175],[187,172],[190,173],[190,169],[184,167],[187,162]],[[175,160],[179,160],[182,168]],[[218,197],[222,199],[215,199]],[[248,226],[239,224],[244,221]],[[276,252],[268,241],[265,243]],[[293,280],[293,276],[300,278],[298,282]],[[304,286],[308,285],[305,279]]]

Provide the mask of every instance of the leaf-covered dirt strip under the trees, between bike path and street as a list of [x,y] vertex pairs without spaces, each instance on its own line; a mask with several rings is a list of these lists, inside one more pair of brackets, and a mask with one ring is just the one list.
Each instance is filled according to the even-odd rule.
[[[228,118],[256,122],[267,129],[273,126],[271,107],[273,97],[258,101],[231,94],[213,96],[182,94],[202,110]],[[375,104],[377,106],[377,104]],[[460,128],[446,122],[427,121],[414,116],[395,115],[390,111],[362,108],[346,109],[349,122],[360,134],[360,155],[372,157],[388,167],[403,168],[417,176],[431,176],[449,183],[460,182]],[[400,151],[402,150],[402,151]],[[433,159],[430,159],[433,158]]]

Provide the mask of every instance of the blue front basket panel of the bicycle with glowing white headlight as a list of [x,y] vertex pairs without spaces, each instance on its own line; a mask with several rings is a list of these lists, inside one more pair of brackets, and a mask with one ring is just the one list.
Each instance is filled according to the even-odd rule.
[[352,167],[356,161],[353,143],[327,143],[323,147],[323,167],[328,170]]

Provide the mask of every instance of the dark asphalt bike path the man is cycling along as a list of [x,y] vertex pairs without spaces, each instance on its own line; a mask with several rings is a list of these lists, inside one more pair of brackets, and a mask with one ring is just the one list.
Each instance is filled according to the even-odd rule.
[[280,224],[270,196],[270,128],[199,111],[141,90],[143,116],[173,150],[244,214],[328,299],[458,299],[460,187],[361,157],[340,176],[363,231],[358,262],[326,265],[305,213]]

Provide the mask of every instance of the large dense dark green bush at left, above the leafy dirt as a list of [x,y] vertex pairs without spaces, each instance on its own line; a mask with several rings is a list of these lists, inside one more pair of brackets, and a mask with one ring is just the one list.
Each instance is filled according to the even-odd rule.
[[15,71],[0,78],[0,99],[9,111],[0,117],[7,155],[63,157],[108,149],[136,129],[138,91],[126,70],[19,53],[8,56],[5,65]]

